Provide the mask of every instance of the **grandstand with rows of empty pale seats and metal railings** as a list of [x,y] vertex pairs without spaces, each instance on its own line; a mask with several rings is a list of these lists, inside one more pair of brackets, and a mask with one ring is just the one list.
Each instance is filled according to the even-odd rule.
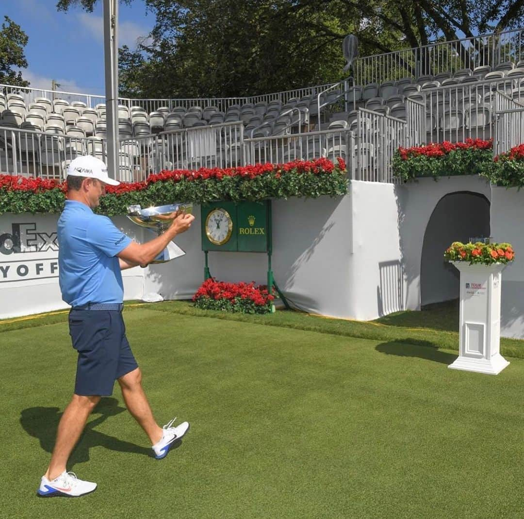
[[[392,182],[398,146],[479,137],[507,149],[520,136],[508,114],[524,109],[521,32],[364,57],[354,79],[265,96],[120,99],[119,178],[327,156],[351,178]],[[105,158],[104,98],[1,89],[0,172],[63,178],[79,154]]]

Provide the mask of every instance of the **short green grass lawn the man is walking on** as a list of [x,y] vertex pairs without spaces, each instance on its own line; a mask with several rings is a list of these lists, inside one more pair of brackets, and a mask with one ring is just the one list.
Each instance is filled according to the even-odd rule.
[[75,354],[65,314],[0,322],[1,517],[523,515],[519,358],[498,376],[447,369],[456,333],[407,314],[354,323],[159,303],[125,319],[156,417],[190,432],[155,460],[115,388],[68,467],[99,488],[38,499]]

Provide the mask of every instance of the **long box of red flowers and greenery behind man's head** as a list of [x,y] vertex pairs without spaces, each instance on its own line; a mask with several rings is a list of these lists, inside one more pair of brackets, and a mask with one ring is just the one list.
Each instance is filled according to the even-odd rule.
[[[161,171],[149,175],[143,182],[107,186],[97,212],[107,216],[125,215],[130,205],[165,205],[173,200],[205,204],[216,200],[335,197],[345,195],[347,187],[342,159],[335,164],[319,158],[286,164]],[[65,192],[64,182],[0,175],[0,214],[60,213]]]

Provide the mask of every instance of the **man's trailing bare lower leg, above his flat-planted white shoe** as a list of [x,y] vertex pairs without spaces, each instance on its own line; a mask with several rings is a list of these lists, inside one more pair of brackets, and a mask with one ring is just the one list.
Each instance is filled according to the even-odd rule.
[[65,470],[71,451],[84,430],[85,422],[99,401],[99,396],[73,395],[58,424],[57,440],[45,474],[48,480],[58,478]]

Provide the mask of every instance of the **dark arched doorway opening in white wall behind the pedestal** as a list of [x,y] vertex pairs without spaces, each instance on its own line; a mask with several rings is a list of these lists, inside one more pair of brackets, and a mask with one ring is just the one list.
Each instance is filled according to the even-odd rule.
[[456,192],[436,204],[424,233],[420,263],[420,304],[459,298],[459,272],[444,261],[453,241],[488,237],[489,200],[479,193]]

